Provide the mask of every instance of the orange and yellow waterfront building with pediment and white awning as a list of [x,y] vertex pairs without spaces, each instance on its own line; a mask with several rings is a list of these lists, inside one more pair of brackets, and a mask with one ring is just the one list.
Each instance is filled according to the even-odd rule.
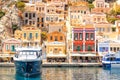
[[48,35],[46,53],[48,62],[66,62],[65,35],[62,32],[51,32]]

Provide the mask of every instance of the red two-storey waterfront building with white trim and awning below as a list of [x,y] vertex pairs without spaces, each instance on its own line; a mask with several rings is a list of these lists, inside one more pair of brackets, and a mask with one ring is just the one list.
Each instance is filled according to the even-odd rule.
[[96,62],[96,31],[93,25],[73,27],[72,62]]

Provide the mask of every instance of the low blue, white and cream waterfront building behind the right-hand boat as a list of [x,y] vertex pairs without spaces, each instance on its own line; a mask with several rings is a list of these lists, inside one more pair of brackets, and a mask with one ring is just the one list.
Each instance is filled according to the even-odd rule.
[[115,53],[118,51],[120,51],[120,41],[109,39],[98,41],[98,54],[100,56],[103,56],[108,52]]

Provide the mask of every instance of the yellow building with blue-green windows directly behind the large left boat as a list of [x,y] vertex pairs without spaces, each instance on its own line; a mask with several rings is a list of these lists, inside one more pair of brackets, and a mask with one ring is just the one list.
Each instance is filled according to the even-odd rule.
[[16,30],[16,39],[22,40],[22,46],[40,46],[41,30],[33,26],[24,26],[21,30]]

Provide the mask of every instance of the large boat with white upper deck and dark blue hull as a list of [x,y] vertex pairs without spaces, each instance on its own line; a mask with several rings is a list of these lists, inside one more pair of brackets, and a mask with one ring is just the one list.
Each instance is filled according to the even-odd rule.
[[41,47],[16,48],[16,54],[13,59],[16,73],[26,77],[40,75],[42,65]]

